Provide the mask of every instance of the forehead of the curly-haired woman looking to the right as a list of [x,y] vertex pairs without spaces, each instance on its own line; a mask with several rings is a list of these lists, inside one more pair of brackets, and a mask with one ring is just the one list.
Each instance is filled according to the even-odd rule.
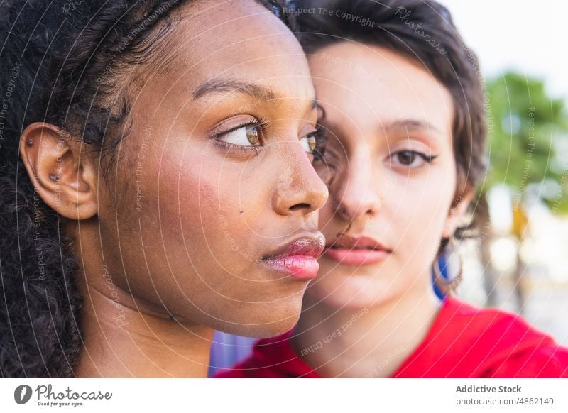
[[190,89],[224,77],[314,94],[300,44],[266,7],[254,0],[199,1],[182,14],[171,33],[172,63]]

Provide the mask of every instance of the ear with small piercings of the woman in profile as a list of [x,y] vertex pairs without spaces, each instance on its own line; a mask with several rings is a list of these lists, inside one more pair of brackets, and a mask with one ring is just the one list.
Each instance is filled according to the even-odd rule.
[[29,125],[20,139],[20,155],[35,191],[45,204],[74,220],[97,214],[97,173],[83,146],[43,122]]

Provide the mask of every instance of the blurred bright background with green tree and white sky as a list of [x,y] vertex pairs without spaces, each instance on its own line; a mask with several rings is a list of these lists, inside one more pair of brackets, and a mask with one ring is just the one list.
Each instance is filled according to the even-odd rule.
[[442,0],[486,79],[490,169],[459,296],[568,345],[568,4]]

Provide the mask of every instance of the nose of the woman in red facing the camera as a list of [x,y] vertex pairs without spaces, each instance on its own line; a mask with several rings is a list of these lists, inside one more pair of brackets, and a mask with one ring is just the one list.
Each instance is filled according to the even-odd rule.
[[368,154],[351,158],[343,176],[329,190],[334,214],[346,221],[371,219],[381,209]]

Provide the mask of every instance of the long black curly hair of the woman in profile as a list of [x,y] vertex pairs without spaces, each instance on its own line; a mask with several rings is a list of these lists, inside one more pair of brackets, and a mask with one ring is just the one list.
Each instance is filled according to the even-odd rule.
[[[293,28],[278,1],[259,2]],[[82,344],[72,240],[35,192],[21,133],[52,123],[111,165],[130,108],[118,76],[153,62],[187,3],[0,3],[0,377],[73,377]]]

